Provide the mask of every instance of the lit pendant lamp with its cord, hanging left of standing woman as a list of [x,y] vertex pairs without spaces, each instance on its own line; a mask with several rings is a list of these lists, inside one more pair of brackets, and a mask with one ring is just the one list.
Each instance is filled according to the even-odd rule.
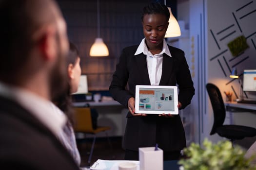
[[97,24],[98,24],[98,37],[95,39],[91,49],[90,56],[91,57],[105,57],[109,55],[108,48],[106,44],[103,42],[103,39],[100,38],[99,33],[99,0],[97,0]]

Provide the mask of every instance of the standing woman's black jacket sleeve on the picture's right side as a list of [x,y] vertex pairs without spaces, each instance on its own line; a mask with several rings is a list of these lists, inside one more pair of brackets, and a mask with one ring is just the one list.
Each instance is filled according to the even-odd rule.
[[193,86],[190,70],[183,51],[179,71],[177,73],[177,84],[179,89],[178,101],[182,104],[181,109],[184,109],[190,104],[192,97],[195,94],[195,88]]

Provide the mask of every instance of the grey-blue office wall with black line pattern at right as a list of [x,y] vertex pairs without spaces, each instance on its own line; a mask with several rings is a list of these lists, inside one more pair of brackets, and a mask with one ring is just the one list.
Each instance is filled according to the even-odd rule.
[[[213,111],[205,85],[210,82],[224,91],[239,95],[237,79],[229,78],[233,67],[242,75],[243,69],[256,69],[256,0],[190,0],[191,55],[195,58],[196,97],[194,112],[197,115],[197,138],[210,136]],[[227,44],[237,36],[244,35],[249,48],[233,56]],[[245,95],[245,94],[244,94]],[[256,98],[255,93],[247,93]],[[246,96],[245,95],[245,96]],[[246,118],[245,118],[246,119]]]

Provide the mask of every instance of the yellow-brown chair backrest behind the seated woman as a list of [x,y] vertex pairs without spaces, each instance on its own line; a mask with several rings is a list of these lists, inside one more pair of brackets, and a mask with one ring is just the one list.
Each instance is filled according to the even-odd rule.
[[75,132],[84,132],[84,133],[92,133],[93,124],[92,124],[92,116],[91,110],[89,107],[75,107],[75,124],[74,130]]

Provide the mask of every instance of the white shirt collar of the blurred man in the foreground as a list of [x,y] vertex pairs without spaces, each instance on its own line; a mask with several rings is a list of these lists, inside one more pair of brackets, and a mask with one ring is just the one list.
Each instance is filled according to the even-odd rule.
[[59,137],[62,128],[66,124],[67,118],[64,114],[54,114],[55,109],[59,108],[53,107],[52,102],[25,89],[10,87],[1,82],[0,95],[20,103],[21,106],[30,111],[33,116],[39,119],[42,124]]

